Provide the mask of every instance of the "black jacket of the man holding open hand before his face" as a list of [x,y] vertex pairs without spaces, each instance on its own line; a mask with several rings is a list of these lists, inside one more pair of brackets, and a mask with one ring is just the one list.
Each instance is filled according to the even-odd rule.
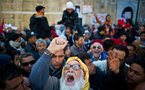
[[122,63],[118,74],[114,74],[108,70],[105,75],[106,90],[128,90],[126,81],[127,69],[125,63]]

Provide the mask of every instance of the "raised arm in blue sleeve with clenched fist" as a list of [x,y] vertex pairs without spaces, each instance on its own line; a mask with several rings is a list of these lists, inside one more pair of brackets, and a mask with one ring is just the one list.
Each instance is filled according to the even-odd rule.
[[52,40],[46,52],[34,64],[29,76],[30,84],[34,90],[42,90],[45,83],[49,79],[49,65],[51,64],[51,55],[59,50],[63,50],[67,45],[67,41],[57,37]]

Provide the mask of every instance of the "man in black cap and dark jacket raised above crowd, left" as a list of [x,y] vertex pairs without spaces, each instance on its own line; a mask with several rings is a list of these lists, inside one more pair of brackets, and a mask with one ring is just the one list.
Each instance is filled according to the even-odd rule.
[[45,15],[44,6],[36,6],[36,13],[30,18],[30,29],[37,34],[37,38],[49,38],[51,32]]

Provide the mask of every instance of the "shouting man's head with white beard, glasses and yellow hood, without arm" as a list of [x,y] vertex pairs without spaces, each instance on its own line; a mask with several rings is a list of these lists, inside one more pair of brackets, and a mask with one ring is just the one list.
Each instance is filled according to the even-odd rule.
[[88,79],[87,66],[78,57],[70,57],[62,71],[60,90],[88,90]]

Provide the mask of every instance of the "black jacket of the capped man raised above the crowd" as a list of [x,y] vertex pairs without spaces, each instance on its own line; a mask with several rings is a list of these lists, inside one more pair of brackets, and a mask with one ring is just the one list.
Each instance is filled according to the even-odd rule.
[[37,34],[37,38],[47,38],[51,36],[47,18],[44,16],[36,17],[33,14],[30,18],[30,29]]

